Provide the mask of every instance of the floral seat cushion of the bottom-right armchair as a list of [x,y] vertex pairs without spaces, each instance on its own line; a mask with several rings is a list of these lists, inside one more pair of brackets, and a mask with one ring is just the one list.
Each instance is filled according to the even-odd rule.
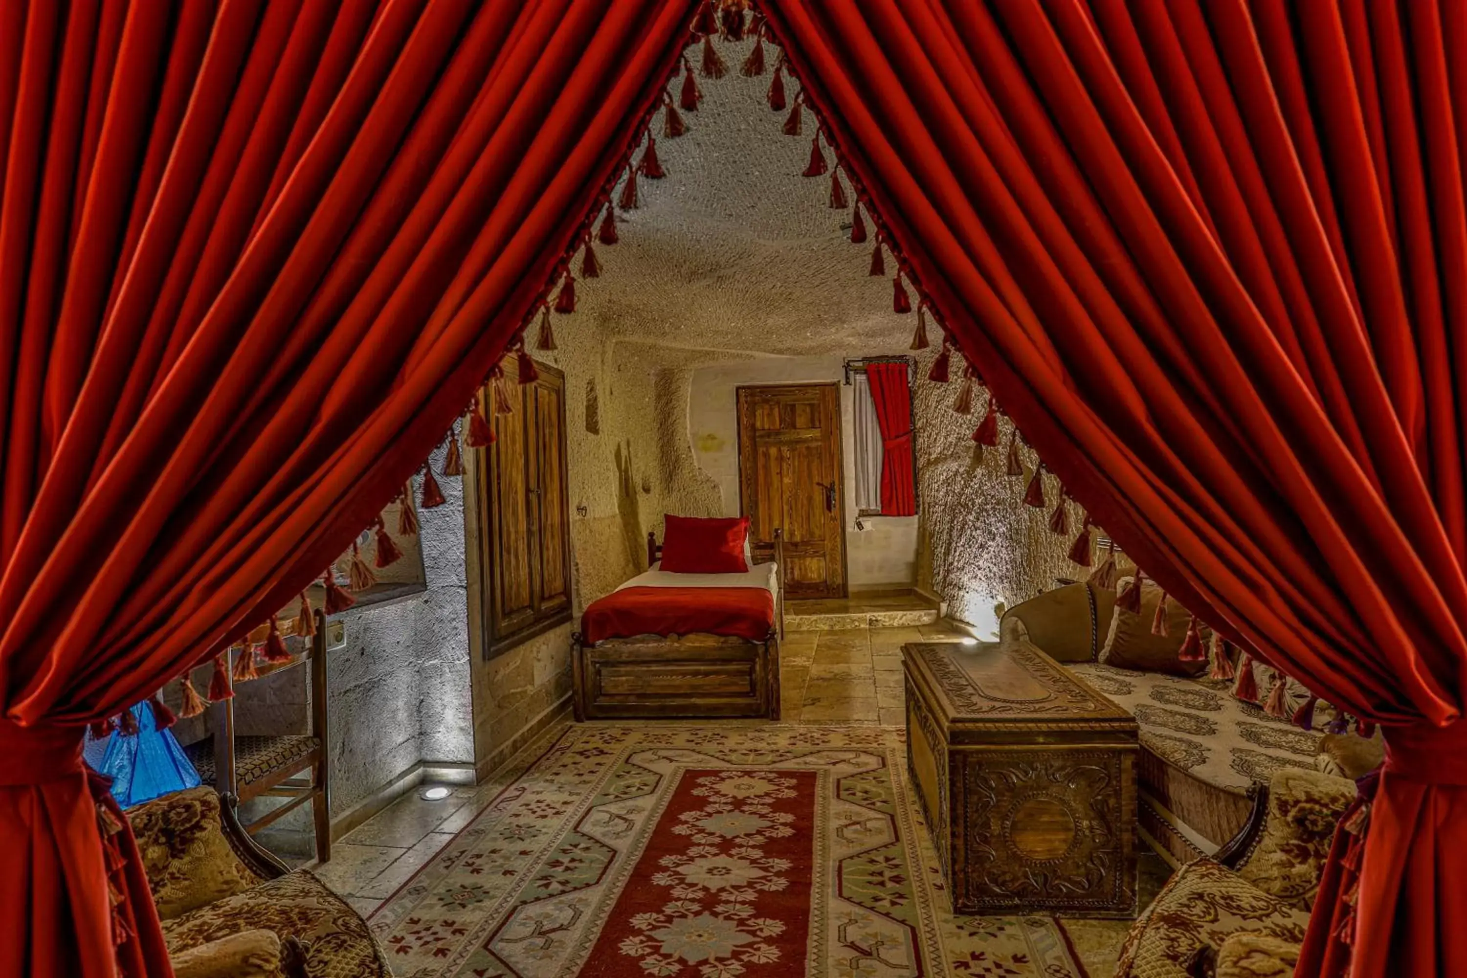
[[1212,859],[1178,869],[1131,925],[1116,978],[1187,978],[1207,949],[1238,931],[1300,943],[1309,913],[1273,897]]

